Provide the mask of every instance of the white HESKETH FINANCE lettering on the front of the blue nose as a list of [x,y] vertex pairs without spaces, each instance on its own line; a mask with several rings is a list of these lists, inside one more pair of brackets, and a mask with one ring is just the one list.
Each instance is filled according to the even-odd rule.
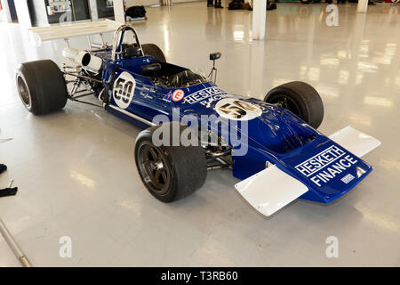
[[[358,162],[353,156],[346,151],[341,150],[336,145],[332,145],[324,151],[319,152],[311,159],[307,159],[296,166],[296,170],[309,179],[317,186],[321,187],[322,183],[328,183],[331,179],[340,175],[346,169]],[[346,175],[348,176],[348,175]],[[344,183],[349,183],[355,177],[349,179],[342,178]]]

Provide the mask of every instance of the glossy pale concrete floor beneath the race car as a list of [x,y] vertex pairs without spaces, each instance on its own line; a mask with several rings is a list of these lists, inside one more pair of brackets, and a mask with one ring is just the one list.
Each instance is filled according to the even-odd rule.
[[[400,9],[376,5],[357,14],[340,5],[339,27],[325,24],[325,4],[278,4],[267,37],[251,38],[252,12],[204,3],[148,8],[136,23],[142,43],[169,61],[207,72],[220,51],[219,85],[262,98],[276,85],[303,80],[321,93],[320,131],[354,126],[380,139],[364,159],[374,171],[329,206],[297,200],[267,218],[234,190],[229,171],[210,172],[188,199],[162,204],[145,190],[132,158],[139,130],[95,107],[68,102],[42,117],[21,105],[14,70],[21,61],[60,62],[63,41],[28,44],[17,25],[0,25],[0,161],[19,192],[0,199],[0,217],[33,265],[400,265]],[[110,37],[108,37],[109,40]],[[86,39],[72,45],[85,48]],[[60,237],[72,257],[60,258]],[[327,237],[339,257],[325,256]],[[0,238],[0,265],[18,265]]]

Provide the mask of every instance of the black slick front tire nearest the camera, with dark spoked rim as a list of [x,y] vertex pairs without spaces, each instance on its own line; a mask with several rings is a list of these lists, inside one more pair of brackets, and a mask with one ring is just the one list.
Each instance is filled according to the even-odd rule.
[[[140,132],[135,142],[135,162],[141,181],[156,199],[164,203],[187,197],[204,184],[207,176],[206,159],[200,145],[171,146],[174,124],[180,134],[187,128],[178,123],[152,126]],[[157,134],[162,126],[171,134],[170,143],[166,143],[169,146],[153,143],[153,134],[157,132],[155,137],[160,137]]]

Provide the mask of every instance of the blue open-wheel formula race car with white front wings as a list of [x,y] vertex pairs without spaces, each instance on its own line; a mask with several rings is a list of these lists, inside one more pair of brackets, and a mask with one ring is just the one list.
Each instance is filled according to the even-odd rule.
[[[42,39],[100,32],[93,24],[76,25],[68,35],[58,27],[33,31]],[[20,99],[41,115],[62,109],[68,99],[84,102],[94,95],[99,103],[84,103],[144,128],[134,159],[156,199],[182,199],[204,184],[207,170],[230,168],[243,180],[236,190],[270,216],[298,198],[330,203],[372,171],[360,157],[380,142],[350,126],[329,137],[316,131],[324,106],[304,82],[279,85],[264,101],[228,94],[211,80],[215,68],[207,78],[167,62],[156,45],[141,45],[129,25],[118,25],[113,45],[96,46],[68,46],[63,55],[75,65],[62,69],[49,60],[22,63],[16,75]],[[218,58],[220,53],[210,54],[214,63]],[[183,134],[195,143],[180,140]]]

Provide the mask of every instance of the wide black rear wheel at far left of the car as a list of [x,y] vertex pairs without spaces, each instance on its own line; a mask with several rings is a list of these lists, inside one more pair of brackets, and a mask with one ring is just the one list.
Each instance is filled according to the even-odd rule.
[[53,61],[22,63],[16,81],[20,100],[35,115],[60,110],[67,103],[67,85]]

